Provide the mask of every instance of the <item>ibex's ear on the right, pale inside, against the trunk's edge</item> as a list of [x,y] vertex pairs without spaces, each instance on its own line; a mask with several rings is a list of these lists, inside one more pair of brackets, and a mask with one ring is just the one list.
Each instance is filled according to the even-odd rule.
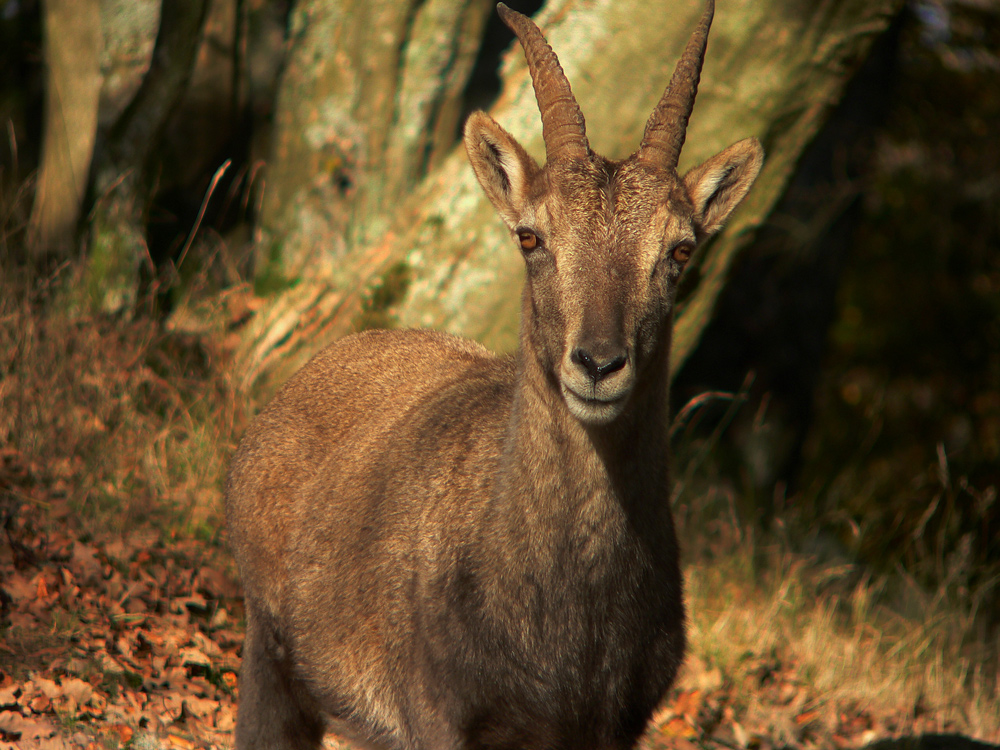
[[711,236],[722,229],[763,164],[764,149],[760,141],[745,138],[684,175],[684,187],[694,203],[694,222],[700,235]]

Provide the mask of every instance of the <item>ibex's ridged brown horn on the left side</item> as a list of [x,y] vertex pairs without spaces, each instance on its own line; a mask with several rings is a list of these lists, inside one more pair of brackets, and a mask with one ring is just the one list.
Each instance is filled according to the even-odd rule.
[[586,158],[590,146],[583,113],[556,53],[530,18],[503,3],[497,4],[497,13],[524,48],[538,111],[542,113],[546,159],[551,162],[560,158]]

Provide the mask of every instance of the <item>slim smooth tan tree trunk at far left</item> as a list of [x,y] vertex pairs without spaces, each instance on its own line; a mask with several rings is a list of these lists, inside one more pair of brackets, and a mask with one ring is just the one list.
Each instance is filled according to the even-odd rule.
[[73,238],[97,137],[100,0],[45,0],[45,133],[28,251],[59,258]]

